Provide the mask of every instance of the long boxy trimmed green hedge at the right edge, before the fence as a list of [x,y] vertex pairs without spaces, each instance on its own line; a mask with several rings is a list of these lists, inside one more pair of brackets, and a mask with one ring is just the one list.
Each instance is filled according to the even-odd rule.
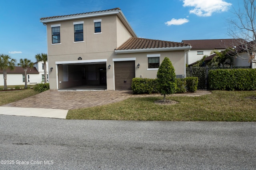
[[210,90],[256,90],[256,69],[209,70]]

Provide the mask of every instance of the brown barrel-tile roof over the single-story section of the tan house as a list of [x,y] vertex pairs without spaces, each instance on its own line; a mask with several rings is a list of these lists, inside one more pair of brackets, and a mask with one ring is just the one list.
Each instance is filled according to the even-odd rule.
[[162,40],[151,40],[145,38],[129,38],[115,50],[126,49],[149,49],[149,48],[167,48],[167,47],[187,47],[189,43],[168,42]]

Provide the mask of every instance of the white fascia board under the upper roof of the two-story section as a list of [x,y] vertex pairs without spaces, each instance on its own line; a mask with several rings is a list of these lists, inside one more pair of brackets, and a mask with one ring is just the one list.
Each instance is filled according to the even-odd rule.
[[48,23],[48,22],[58,22],[63,20],[73,20],[73,19],[79,19],[79,18],[89,18],[94,16],[105,16],[105,15],[112,15],[112,14],[118,14],[119,10],[116,11],[105,11],[105,12],[98,12],[98,13],[92,13],[92,14],[80,14],[80,15],[72,15],[72,16],[62,16],[58,18],[48,18],[41,20],[42,23]]

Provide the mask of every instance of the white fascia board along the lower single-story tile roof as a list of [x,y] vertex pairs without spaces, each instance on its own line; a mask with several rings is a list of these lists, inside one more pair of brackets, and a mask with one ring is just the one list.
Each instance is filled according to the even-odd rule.
[[115,50],[115,53],[140,53],[140,52],[154,52],[154,51],[177,51],[177,50],[190,50],[191,46],[186,47],[167,47],[167,48],[146,48],[146,49],[122,49]]

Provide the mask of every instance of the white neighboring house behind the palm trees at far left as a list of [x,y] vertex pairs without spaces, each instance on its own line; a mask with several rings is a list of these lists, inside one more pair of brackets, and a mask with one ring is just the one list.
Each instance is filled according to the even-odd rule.
[[[48,74],[48,73],[47,73]],[[33,68],[28,68],[27,81],[29,83],[44,82],[44,70],[42,61],[34,63]],[[7,85],[25,85],[25,73],[22,67],[16,66],[14,70],[7,70]],[[4,85],[3,71],[0,70],[0,85]]]

